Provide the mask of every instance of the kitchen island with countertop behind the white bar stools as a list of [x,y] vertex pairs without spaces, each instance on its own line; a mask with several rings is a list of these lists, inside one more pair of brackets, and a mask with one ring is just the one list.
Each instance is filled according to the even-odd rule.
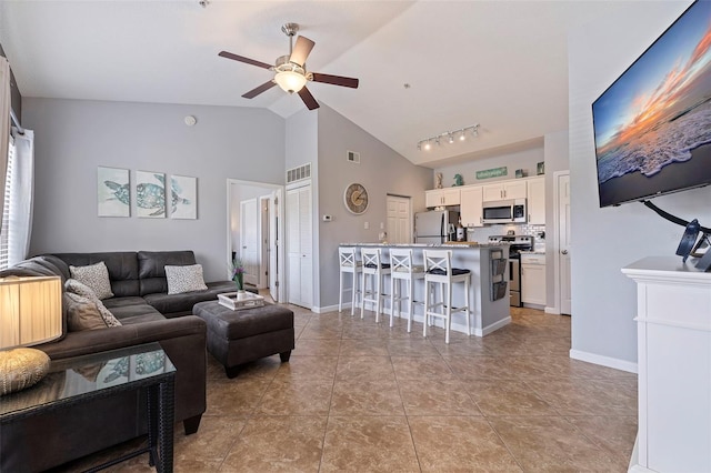
[[[341,246],[369,246],[380,248],[382,250],[382,261],[388,263],[390,261],[389,250],[391,248],[397,249],[411,249],[413,254],[413,264],[423,265],[422,250],[452,250],[452,266],[461,268],[471,271],[471,288],[470,288],[470,323],[472,328],[472,335],[483,336],[491,333],[502,326],[508,325],[511,322],[511,314],[509,312],[509,248],[507,244],[492,244],[492,243],[443,243],[443,244],[388,244],[388,243],[341,243]],[[360,256],[359,256],[360,258]],[[497,268],[502,269],[501,274]],[[383,283],[384,292],[388,296],[384,298],[384,312],[390,313],[390,276],[384,276]],[[424,282],[422,280],[415,281],[414,285],[414,300],[424,300]],[[464,301],[462,284],[454,284],[452,290],[453,305],[460,306]],[[403,310],[403,315],[407,310]],[[467,333],[467,320],[464,313],[452,314],[452,330]],[[424,320],[422,304],[415,304],[413,321],[422,323]],[[442,326],[442,321],[435,321],[437,326]],[[413,329],[415,330],[415,329]]]

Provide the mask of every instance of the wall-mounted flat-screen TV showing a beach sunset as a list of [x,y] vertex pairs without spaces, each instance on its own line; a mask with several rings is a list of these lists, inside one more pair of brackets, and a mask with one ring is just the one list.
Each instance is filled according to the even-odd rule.
[[697,1],[592,104],[600,207],[711,183],[711,1]]

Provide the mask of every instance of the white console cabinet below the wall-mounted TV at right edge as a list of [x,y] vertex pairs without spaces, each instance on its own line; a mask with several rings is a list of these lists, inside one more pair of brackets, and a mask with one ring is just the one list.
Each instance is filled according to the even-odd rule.
[[631,472],[711,472],[711,273],[650,256],[637,282],[639,431]]

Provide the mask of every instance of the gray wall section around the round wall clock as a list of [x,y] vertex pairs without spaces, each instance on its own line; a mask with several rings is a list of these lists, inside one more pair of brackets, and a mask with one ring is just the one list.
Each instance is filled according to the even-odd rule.
[[[342,242],[375,242],[387,227],[385,199],[411,198],[412,211],[424,210],[424,190],[432,187],[432,170],[412,164],[402,155],[328,107],[319,109],[319,195],[321,308],[338,304],[338,245]],[[360,152],[360,164],[346,160],[347,151]],[[361,215],[350,213],[343,191],[352,182],[368,190],[369,208]],[[323,222],[330,214],[333,221]],[[364,222],[370,229],[365,230]]]

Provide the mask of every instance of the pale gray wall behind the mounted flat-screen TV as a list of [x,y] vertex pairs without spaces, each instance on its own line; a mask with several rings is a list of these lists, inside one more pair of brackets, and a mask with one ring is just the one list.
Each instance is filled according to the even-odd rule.
[[[690,2],[629,2],[581,23],[569,37],[574,358],[634,369],[635,284],[620,269],[648,255],[673,255],[683,233],[640,203],[600,209],[591,103]],[[711,188],[654,199],[683,219],[711,224]]]

